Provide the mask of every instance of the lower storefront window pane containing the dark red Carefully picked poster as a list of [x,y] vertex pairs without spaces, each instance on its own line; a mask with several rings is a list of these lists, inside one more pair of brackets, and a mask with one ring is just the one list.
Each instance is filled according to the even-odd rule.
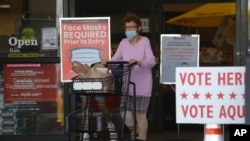
[[0,73],[0,134],[63,131],[63,95],[57,64],[4,64]]

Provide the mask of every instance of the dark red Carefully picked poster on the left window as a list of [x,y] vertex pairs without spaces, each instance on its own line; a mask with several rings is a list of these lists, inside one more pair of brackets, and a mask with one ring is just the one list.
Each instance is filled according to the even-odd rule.
[[55,101],[58,81],[55,64],[4,65],[4,100]]

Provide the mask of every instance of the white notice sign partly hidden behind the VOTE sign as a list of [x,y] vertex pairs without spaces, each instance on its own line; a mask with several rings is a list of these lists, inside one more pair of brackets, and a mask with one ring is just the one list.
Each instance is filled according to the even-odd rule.
[[162,34],[160,83],[175,84],[176,67],[199,65],[199,35]]

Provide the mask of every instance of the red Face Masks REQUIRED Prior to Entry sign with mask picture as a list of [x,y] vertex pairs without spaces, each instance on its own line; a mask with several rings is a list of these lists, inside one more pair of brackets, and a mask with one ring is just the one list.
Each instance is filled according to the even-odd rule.
[[60,18],[61,81],[77,74],[73,62],[91,66],[110,58],[110,18]]

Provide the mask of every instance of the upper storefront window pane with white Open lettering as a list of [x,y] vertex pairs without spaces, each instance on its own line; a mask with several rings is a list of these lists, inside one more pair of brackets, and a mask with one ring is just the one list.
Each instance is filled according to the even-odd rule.
[[58,56],[56,0],[1,0],[0,17],[0,57]]

